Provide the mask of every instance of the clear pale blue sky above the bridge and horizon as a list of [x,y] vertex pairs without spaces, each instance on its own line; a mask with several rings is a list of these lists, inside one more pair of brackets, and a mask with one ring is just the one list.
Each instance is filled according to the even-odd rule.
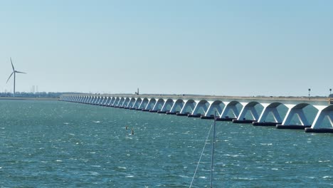
[[328,95],[333,1],[0,1],[0,91]]

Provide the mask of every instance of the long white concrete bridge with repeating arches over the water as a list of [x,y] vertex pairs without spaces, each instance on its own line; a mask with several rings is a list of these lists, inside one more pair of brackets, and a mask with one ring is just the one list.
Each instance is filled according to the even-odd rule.
[[278,129],[333,133],[333,98],[215,95],[61,95],[60,100]]

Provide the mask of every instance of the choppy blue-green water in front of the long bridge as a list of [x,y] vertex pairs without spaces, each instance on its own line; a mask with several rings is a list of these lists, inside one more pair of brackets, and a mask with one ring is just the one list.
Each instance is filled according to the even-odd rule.
[[[211,124],[78,103],[0,100],[0,187],[189,187]],[[214,187],[333,187],[332,134],[216,125]],[[209,187],[208,144],[193,187]]]

